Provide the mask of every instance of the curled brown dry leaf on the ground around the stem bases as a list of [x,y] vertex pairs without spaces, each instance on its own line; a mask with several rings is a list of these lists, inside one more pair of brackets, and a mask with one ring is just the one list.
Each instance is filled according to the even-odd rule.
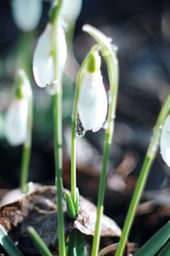
[[[32,226],[52,253],[56,253],[58,244],[57,207],[55,204],[55,187],[39,186],[34,192],[23,195],[18,201],[0,208],[0,224],[8,231],[14,241],[18,241],[20,249],[26,255],[38,255],[37,249],[27,233]],[[63,210],[66,211],[63,195]],[[80,213],[74,221],[65,214],[65,238],[73,229],[85,235],[94,235],[96,207],[90,201],[80,197]],[[120,236],[121,230],[116,223],[104,216],[101,236]]]

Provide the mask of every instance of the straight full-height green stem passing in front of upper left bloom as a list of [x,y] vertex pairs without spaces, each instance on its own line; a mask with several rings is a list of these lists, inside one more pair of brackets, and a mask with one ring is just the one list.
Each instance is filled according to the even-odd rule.
[[59,234],[59,255],[65,256],[65,227],[64,213],[62,207],[62,73],[59,63],[59,37],[58,31],[60,26],[59,12],[62,6],[61,0],[57,1],[58,11],[54,18],[53,24],[53,52],[54,52],[54,80],[56,82],[54,94],[54,156],[55,156],[55,184],[56,184],[56,201],[58,207],[58,234]]

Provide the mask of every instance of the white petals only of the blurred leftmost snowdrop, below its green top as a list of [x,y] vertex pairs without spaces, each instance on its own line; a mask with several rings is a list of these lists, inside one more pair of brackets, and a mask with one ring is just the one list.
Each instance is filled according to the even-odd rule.
[[25,99],[14,100],[5,115],[5,135],[13,146],[26,141],[28,102]]

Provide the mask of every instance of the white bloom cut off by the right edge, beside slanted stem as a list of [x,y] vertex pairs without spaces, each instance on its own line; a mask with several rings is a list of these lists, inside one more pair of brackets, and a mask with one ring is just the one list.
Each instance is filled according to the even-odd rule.
[[162,159],[170,167],[170,114],[167,116],[161,131],[160,148]]

